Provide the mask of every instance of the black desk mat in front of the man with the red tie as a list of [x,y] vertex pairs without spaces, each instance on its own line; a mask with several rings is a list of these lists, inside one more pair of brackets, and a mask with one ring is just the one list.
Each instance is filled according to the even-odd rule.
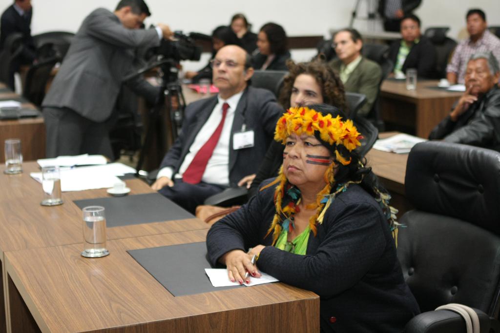
[[105,208],[106,227],[192,219],[193,215],[159,193],[74,200],[80,209],[86,206]]

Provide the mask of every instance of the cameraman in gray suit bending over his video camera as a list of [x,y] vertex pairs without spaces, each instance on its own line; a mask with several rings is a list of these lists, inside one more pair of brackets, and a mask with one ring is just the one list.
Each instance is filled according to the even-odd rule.
[[47,158],[89,153],[112,159],[105,121],[122,83],[154,103],[159,88],[140,78],[123,82],[135,48],[172,35],[165,24],[138,29],[149,15],[143,0],[121,0],[114,12],[97,8],[85,17],[42,103]]

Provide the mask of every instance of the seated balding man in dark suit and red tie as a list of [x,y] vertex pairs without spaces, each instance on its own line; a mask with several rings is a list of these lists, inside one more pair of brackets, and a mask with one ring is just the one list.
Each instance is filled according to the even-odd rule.
[[212,64],[219,93],[187,106],[182,131],[151,186],[190,212],[255,173],[282,111],[270,91],[248,86],[253,68],[243,48],[222,47]]

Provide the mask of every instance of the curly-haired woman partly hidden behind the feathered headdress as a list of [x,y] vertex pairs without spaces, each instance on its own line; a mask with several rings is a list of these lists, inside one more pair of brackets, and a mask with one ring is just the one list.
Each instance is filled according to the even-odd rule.
[[[340,110],[346,110],[345,91],[338,75],[319,59],[310,62],[287,62],[289,74],[283,79],[283,88],[279,94],[279,103],[288,109],[299,105],[326,103]],[[267,178],[275,177],[283,162],[283,145],[271,142],[257,174],[243,178],[240,182],[249,185],[248,198],[257,192],[260,183]]]

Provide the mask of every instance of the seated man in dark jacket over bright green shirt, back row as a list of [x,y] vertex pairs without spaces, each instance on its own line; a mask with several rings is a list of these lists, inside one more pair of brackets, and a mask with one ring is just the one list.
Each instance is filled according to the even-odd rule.
[[420,33],[420,19],[416,15],[409,14],[401,20],[401,37],[390,44],[393,73],[397,76],[415,68],[418,76],[431,77],[436,51],[432,42]]

